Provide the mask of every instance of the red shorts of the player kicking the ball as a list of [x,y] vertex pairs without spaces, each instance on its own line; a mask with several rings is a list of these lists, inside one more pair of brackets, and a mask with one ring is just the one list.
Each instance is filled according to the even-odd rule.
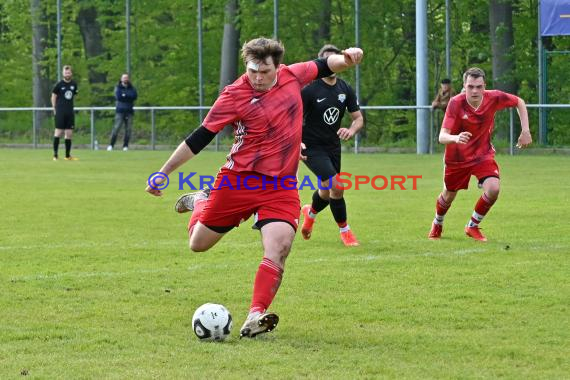
[[223,168],[217,175],[200,222],[212,227],[231,227],[257,214],[256,223],[277,219],[299,225],[301,202],[295,178],[273,178],[254,172]]

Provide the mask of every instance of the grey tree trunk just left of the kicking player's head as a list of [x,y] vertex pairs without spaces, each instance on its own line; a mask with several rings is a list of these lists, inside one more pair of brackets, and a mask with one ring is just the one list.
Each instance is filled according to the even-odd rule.
[[[238,15],[238,0],[227,0],[225,7],[224,37],[222,40],[222,63],[220,69],[220,92],[228,84],[233,83],[238,75],[239,30],[236,20]],[[220,133],[220,138],[230,136],[232,127],[226,126]]]

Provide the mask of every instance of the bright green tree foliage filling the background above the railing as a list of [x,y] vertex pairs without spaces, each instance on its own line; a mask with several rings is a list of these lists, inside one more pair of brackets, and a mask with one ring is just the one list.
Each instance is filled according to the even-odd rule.
[[[211,105],[219,92],[221,40],[225,0],[203,2],[204,103]],[[330,38],[319,38],[322,10],[330,3]],[[29,2],[6,0],[0,5],[0,105],[27,106],[31,103],[31,15]],[[44,59],[46,77],[54,83],[56,70],[56,2],[41,2],[48,27],[48,47]],[[86,58],[83,37],[77,24],[82,7],[94,7],[101,28],[104,54]],[[137,105],[198,104],[198,19],[197,3],[182,0],[131,1],[131,71],[139,90]],[[126,20],[123,1],[93,0],[63,2],[63,63],[74,66],[80,86],[77,105],[109,106],[113,104],[113,87],[126,71]],[[492,82],[492,57],[489,37],[489,4],[484,0],[451,2],[451,79],[455,89],[461,87],[463,71],[480,66],[487,71],[488,87]],[[515,46],[513,73],[519,95],[527,103],[537,103],[537,1],[513,2]],[[360,67],[360,102],[362,105],[415,104],[415,1],[360,1],[360,45],[366,57]],[[241,43],[258,36],[273,35],[273,1],[239,2],[236,19]],[[341,0],[290,0],[279,3],[279,38],[286,48],[285,62],[315,57],[324,43],[341,48],[354,45],[354,2]],[[428,58],[431,94],[445,76],[445,2],[428,1]],[[546,38],[549,50],[570,49],[570,38]],[[238,54],[236,52],[236,54]],[[570,71],[567,56],[548,60],[548,100],[568,103]],[[104,83],[90,83],[89,70],[106,77]],[[242,72],[241,63],[238,72]],[[342,77],[352,84],[354,70]],[[410,114],[409,112],[400,112]],[[554,113],[550,113],[554,115]],[[393,126],[401,115],[371,112],[367,115],[365,144],[414,144],[413,125],[398,140],[390,140]],[[410,123],[412,123],[411,118]],[[2,119],[0,119],[1,121]],[[532,127],[536,120],[532,120]],[[171,136],[186,135],[199,123],[181,113],[168,113],[157,119],[160,130]],[[569,145],[566,126],[570,112],[561,110],[549,118],[550,143]],[[168,132],[166,132],[168,130]],[[401,130],[401,128],[400,128]]]

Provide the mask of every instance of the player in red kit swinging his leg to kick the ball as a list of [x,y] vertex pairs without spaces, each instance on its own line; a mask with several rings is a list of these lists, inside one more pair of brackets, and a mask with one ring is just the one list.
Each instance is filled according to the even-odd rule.
[[[282,65],[281,42],[257,38],[242,47],[246,73],[224,88],[202,125],[183,141],[160,172],[169,175],[198,154],[216,133],[231,124],[234,144],[214,188],[180,197],[177,212],[193,211],[188,223],[190,249],[206,251],[241,221],[256,215],[263,259],[257,270],[249,315],[240,337],[275,328],[279,318],[267,311],[273,301],[300,216],[296,189],[301,152],[301,89],[316,78],[352,67],[359,48],[328,58]],[[151,178],[146,191],[162,195],[162,178]]]

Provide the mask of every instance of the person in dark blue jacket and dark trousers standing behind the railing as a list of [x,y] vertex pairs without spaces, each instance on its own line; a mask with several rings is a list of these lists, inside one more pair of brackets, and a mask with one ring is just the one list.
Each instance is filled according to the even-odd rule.
[[111,142],[107,150],[111,151],[115,147],[117,135],[122,126],[125,126],[125,137],[123,140],[123,151],[129,150],[129,139],[133,127],[134,103],[137,100],[137,89],[129,80],[129,74],[123,74],[121,80],[115,87],[115,99],[117,105],[115,107],[115,125],[111,133]]

